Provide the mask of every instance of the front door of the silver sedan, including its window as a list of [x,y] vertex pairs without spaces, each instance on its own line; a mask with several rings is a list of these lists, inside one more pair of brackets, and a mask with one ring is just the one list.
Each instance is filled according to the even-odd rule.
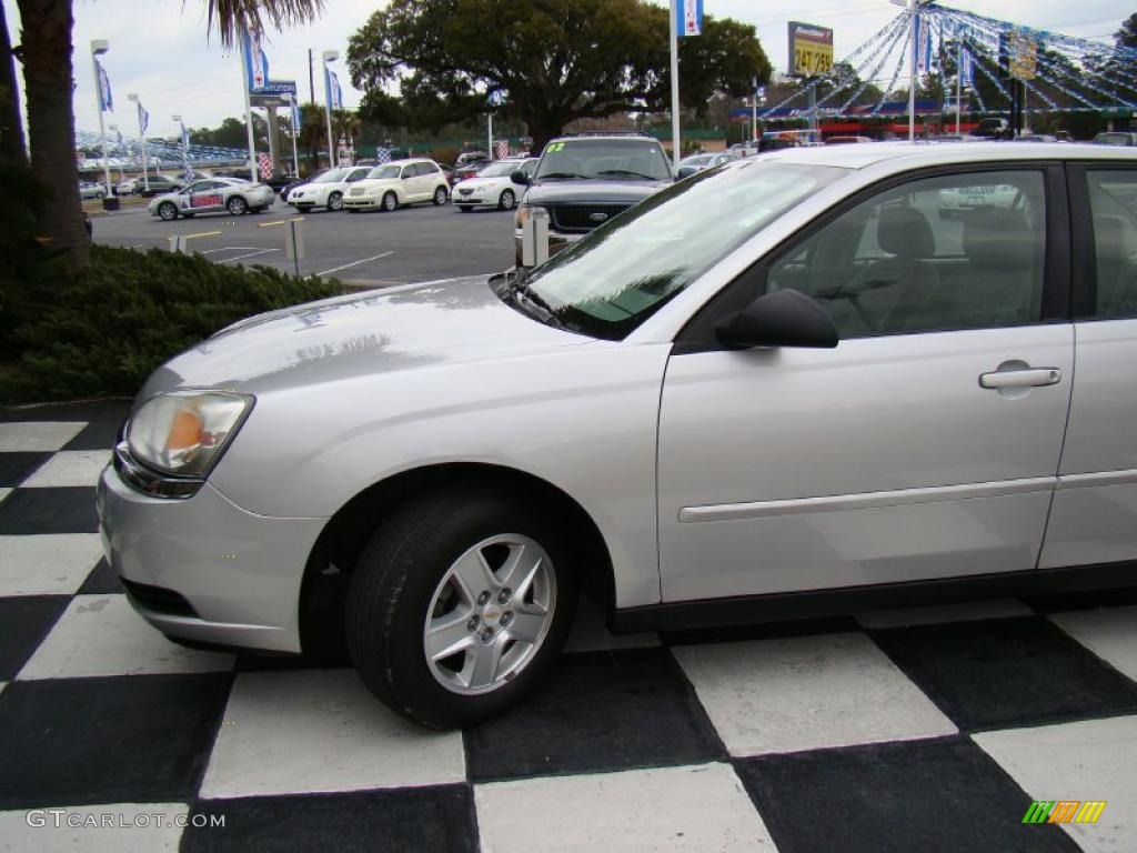
[[[945,215],[976,185],[1020,192]],[[664,379],[664,601],[1034,569],[1070,398],[1067,227],[1060,167],[924,172],[713,300]],[[836,349],[716,343],[716,322],[787,288],[829,312]]]

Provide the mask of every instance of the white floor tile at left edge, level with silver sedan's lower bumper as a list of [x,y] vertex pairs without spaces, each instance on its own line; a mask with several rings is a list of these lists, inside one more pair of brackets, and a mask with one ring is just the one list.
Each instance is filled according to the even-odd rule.
[[0,536],[0,596],[70,595],[101,556],[98,533]]

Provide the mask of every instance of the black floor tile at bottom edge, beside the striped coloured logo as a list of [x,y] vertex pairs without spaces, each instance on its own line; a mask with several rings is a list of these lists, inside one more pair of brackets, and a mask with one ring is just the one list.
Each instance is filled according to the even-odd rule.
[[964,737],[735,762],[778,853],[1051,853],[1080,848],[1023,826],[1030,797]]

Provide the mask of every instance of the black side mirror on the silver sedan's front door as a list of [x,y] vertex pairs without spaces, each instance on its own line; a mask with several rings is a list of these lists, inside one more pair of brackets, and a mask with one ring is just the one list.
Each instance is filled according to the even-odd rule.
[[816,299],[798,290],[760,296],[742,310],[720,321],[715,334],[732,349],[837,346],[837,326],[829,313]]

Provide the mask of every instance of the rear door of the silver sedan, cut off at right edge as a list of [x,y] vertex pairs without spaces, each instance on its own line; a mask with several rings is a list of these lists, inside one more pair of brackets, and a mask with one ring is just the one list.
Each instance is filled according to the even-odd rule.
[[1070,167],[1077,375],[1043,569],[1137,558],[1137,168]]

